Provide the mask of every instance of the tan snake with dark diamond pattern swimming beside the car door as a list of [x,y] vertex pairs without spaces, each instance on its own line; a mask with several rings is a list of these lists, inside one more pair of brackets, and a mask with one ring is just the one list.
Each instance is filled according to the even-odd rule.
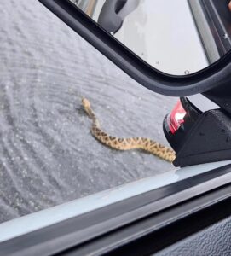
[[161,143],[155,142],[154,140],[147,137],[113,137],[107,134],[106,131],[101,130],[101,124],[99,119],[96,118],[94,111],[90,106],[90,101],[82,97],[82,106],[84,107],[85,113],[92,120],[90,132],[95,139],[109,148],[117,150],[131,150],[141,149],[149,154],[158,156],[162,160],[172,162],[175,157],[175,151],[171,148],[165,147]]

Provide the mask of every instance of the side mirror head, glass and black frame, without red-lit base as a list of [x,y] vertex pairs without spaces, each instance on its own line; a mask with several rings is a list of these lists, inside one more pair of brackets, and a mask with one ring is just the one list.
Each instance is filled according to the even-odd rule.
[[231,113],[228,1],[39,1],[148,89],[203,93]]

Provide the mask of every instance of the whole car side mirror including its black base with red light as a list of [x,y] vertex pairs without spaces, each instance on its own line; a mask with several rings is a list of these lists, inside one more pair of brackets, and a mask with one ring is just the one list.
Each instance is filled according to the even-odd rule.
[[175,166],[230,160],[229,1],[39,1],[148,89],[166,96],[202,93],[221,107],[202,112],[182,97],[165,117]]

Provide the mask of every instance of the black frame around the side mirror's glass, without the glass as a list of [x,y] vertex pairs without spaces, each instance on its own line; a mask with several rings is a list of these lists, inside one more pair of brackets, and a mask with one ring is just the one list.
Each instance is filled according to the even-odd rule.
[[71,3],[63,0],[38,1],[147,89],[165,96],[203,93],[231,113],[228,103],[231,96],[231,52],[197,73],[187,76],[169,75],[142,61]]

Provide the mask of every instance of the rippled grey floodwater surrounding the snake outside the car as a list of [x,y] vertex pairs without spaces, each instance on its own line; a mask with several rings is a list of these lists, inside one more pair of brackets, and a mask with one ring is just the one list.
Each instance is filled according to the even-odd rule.
[[176,98],[137,84],[38,1],[0,6],[0,222],[172,168],[98,143],[81,96],[112,135],[165,145]]

